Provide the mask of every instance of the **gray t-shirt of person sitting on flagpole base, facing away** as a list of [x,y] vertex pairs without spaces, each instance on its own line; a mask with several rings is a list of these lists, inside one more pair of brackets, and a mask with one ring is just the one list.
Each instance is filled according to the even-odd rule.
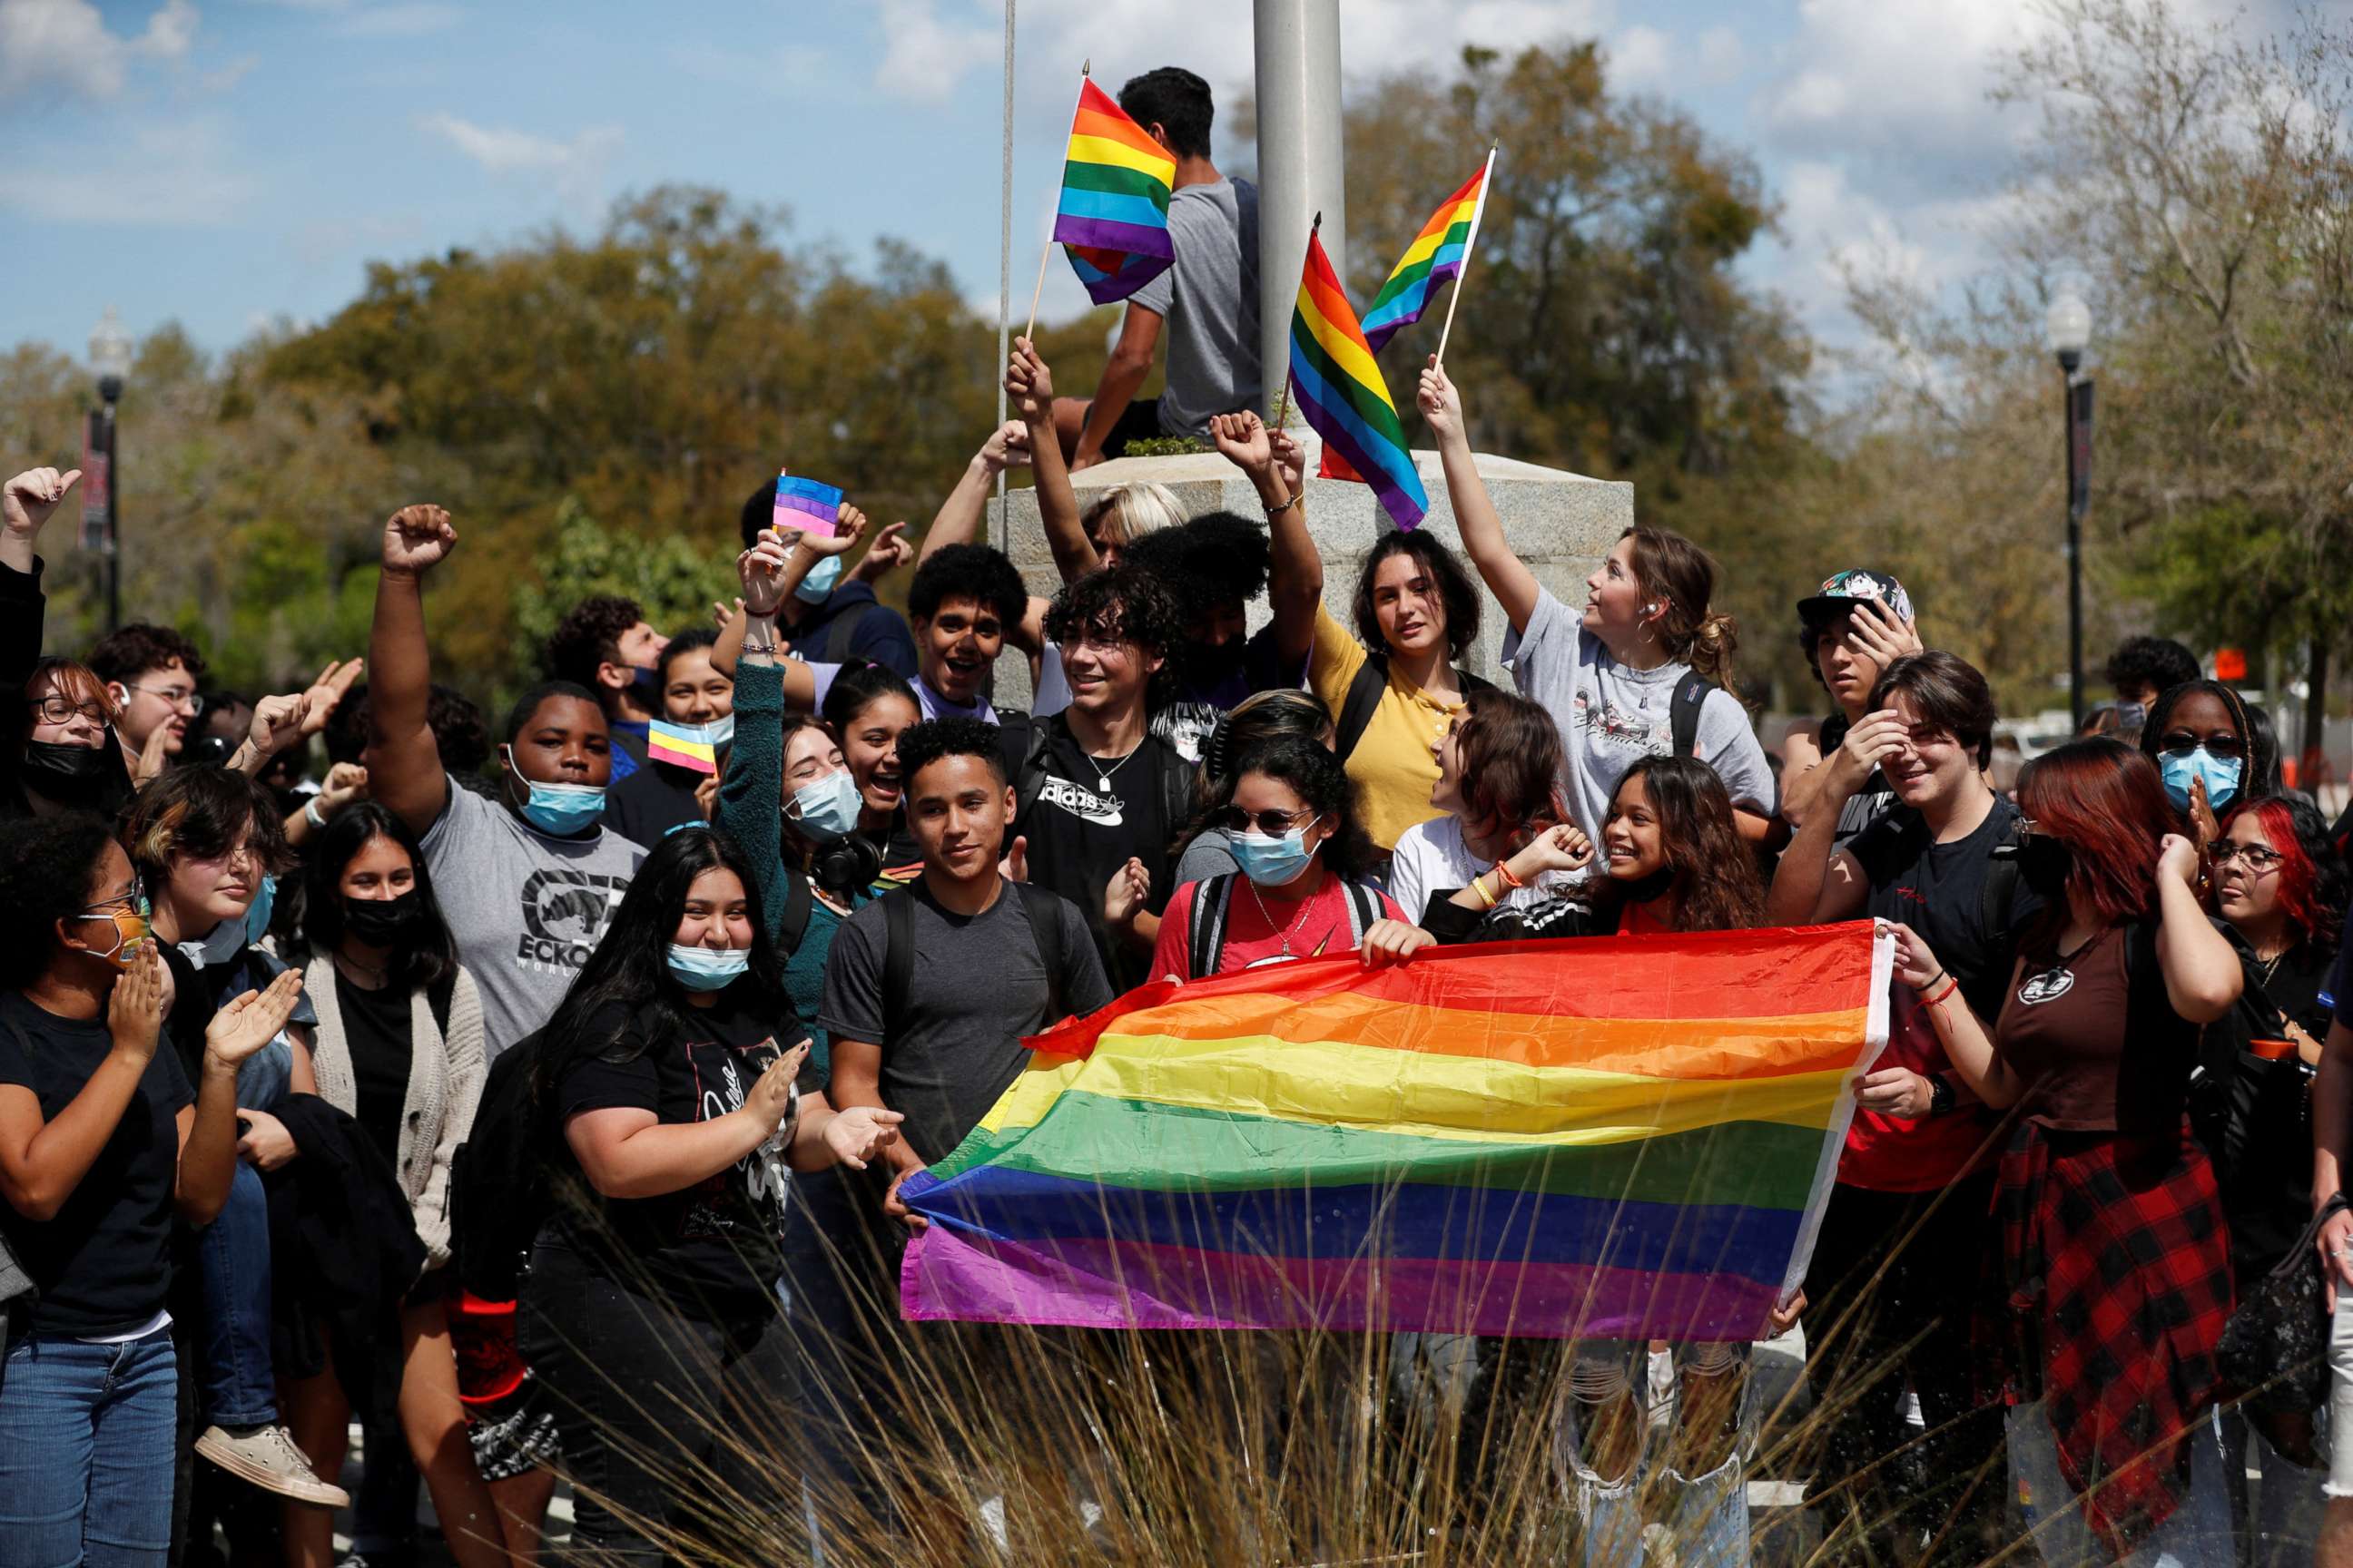
[[1257,409],[1259,376],[1259,188],[1247,179],[1186,186],[1169,195],[1176,266],[1132,299],[1167,324],[1160,430],[1207,435],[1212,414]]

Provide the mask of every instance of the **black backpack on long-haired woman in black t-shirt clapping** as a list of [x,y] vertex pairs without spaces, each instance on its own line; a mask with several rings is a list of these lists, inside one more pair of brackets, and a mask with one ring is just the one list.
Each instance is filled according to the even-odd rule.
[[449,1267],[489,1302],[515,1300],[532,1239],[555,1206],[532,1093],[539,1041],[534,1030],[489,1065],[473,1128],[449,1161]]

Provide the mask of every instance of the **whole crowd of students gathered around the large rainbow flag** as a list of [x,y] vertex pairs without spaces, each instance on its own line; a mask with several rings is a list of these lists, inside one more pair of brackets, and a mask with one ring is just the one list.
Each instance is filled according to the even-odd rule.
[[[1254,195],[1207,167],[1205,89],[1172,136],[1188,223],[1231,240]],[[1209,284],[1174,275],[1188,388],[1254,339]],[[845,569],[856,508],[779,534],[758,489],[718,630],[588,599],[496,724],[433,682],[435,505],[384,527],[365,663],[247,703],[167,628],[45,651],[35,541],[71,475],[7,482],[0,1568],[179,1561],[216,1526],[329,1563],[353,1418],[379,1547],[421,1479],[461,1563],[534,1561],[560,1472],[584,1549],[659,1561],[647,1521],[692,1507],[682,1465],[748,1460],[722,1441],[748,1410],[809,1410],[826,1465],[824,1410],[889,1403],[861,1347],[922,1225],[899,1187],[1056,1018],[1315,954],[1859,917],[1894,933],[1892,1037],[1781,1316],[1842,1540],[1979,1561],[2017,1472],[2115,1561],[2339,1549],[2348,875],[2259,710],[2134,639],[2082,738],[2002,769],[1984,675],[1849,569],[1793,611],[1828,712],[1767,755],[1708,555],[1635,527],[1553,597],[1435,364],[1461,552],[1384,534],[1346,614],[1301,447],[1214,414],[1257,381],[1174,418],[1264,520],[1082,505],[1071,468],[1141,430],[1132,350],[1075,402],[1016,341],[1019,418],[920,552],[882,529]],[[979,543],[1014,463],[1052,599]],[[904,567],[901,618],[873,581]],[[1459,668],[1494,609],[1513,689]],[[1026,712],[991,701],[1007,649]],[[2233,1307],[2292,1269],[2348,1302],[2301,1394],[2224,1366]],[[1661,1519],[1680,1561],[1746,1561],[1751,1347],[1673,1347],[1673,1378],[1628,1342],[1417,1354],[1482,1401],[1567,1387],[1586,1561],[1638,1561]]]

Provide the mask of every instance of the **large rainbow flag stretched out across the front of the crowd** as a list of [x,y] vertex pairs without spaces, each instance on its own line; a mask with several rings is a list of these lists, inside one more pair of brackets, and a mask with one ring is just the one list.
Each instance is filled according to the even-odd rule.
[[1889,943],[1497,943],[1139,987],[1033,1041],[908,1319],[1746,1340],[1805,1276]]

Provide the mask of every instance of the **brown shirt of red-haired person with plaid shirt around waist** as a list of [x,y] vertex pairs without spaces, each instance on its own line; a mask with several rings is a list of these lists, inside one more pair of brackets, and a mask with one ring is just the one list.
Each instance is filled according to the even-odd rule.
[[2155,926],[2111,926],[2080,952],[2028,943],[1993,1046],[2026,1079],[2026,1114],[2064,1133],[2181,1128],[2198,1025],[2165,999]]

